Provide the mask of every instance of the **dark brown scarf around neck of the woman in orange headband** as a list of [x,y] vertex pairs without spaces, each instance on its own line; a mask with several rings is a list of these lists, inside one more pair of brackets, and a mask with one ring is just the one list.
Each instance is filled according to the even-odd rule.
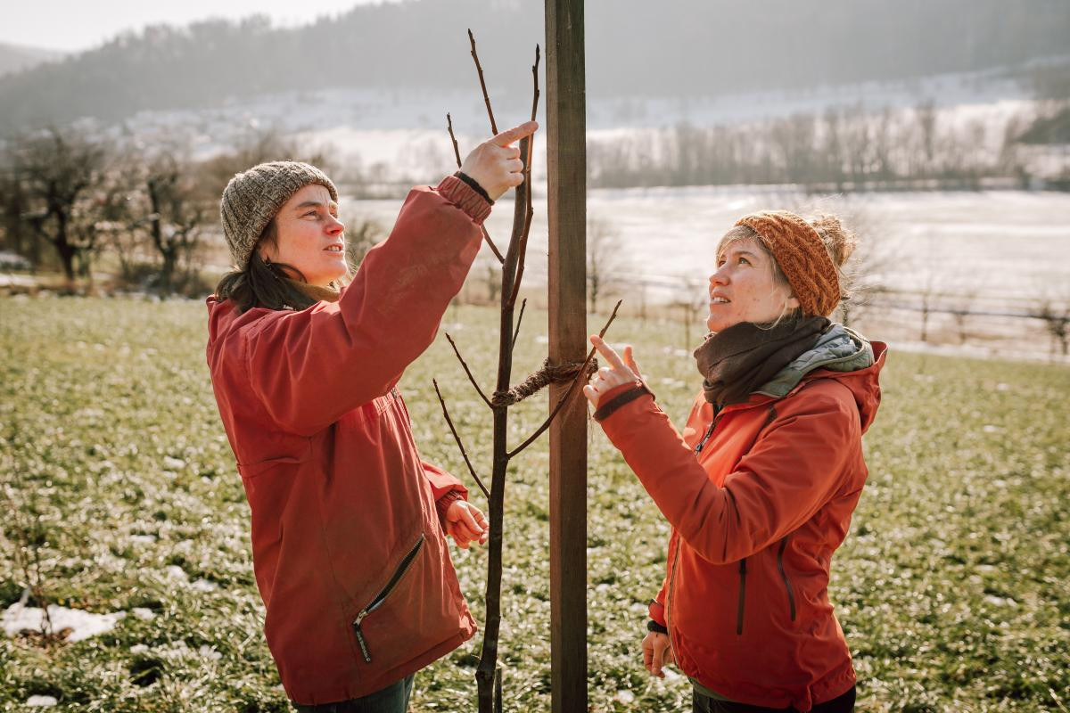
[[710,335],[694,351],[706,401],[718,408],[746,401],[813,347],[829,324],[823,316],[784,320],[771,328],[740,322]]

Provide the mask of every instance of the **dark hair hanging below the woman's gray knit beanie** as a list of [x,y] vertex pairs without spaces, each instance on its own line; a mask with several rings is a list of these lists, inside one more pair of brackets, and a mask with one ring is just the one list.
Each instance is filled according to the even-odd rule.
[[228,273],[215,288],[215,298],[229,299],[242,314],[254,307],[272,310],[303,310],[316,300],[293,285],[290,280],[307,282],[296,267],[265,261],[257,249],[261,244],[277,245],[278,229],[272,218],[253,248],[253,254],[243,269]]

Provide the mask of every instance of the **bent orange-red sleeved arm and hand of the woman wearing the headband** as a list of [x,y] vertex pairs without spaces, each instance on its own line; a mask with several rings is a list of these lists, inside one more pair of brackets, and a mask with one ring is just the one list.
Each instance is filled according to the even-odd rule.
[[844,484],[840,474],[861,438],[844,387],[819,383],[778,402],[776,418],[721,487],[637,379],[630,350],[626,365],[601,340],[592,341],[608,363],[585,389],[598,405],[596,418],[666,520],[704,559],[723,564],[764,549]]

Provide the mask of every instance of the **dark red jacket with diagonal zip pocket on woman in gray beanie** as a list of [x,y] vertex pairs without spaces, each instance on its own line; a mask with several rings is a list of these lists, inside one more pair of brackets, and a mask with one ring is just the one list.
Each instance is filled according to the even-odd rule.
[[238,314],[208,300],[264,633],[299,703],[372,693],[475,632],[435,509],[465,491],[422,461],[395,384],[434,339],[488,213],[450,176],[409,193],[336,304]]

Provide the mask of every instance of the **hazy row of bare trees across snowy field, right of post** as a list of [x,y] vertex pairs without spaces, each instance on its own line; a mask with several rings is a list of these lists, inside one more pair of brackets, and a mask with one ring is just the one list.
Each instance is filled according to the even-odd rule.
[[[1050,109],[1051,110],[1051,109]],[[900,185],[976,188],[985,177],[1029,179],[1020,137],[1035,115],[960,120],[931,103],[871,113],[835,107],[753,124],[681,124],[592,141],[600,187],[798,184],[844,190]]]

